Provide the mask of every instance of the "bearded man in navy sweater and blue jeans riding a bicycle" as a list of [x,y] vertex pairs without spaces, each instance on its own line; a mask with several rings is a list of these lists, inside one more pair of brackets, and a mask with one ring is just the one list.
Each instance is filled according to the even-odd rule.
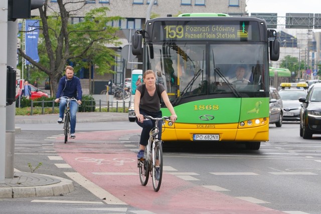
[[[57,123],[63,123],[64,112],[66,108],[66,100],[60,99],[60,97],[76,98],[78,104],[81,104],[82,90],[80,79],[74,76],[74,68],[67,66],[65,68],[66,76],[63,76],[58,83],[58,90],[56,93],[55,102],[59,103],[59,119]],[[75,138],[76,128],[76,113],[78,104],[76,101],[70,101],[70,138]]]

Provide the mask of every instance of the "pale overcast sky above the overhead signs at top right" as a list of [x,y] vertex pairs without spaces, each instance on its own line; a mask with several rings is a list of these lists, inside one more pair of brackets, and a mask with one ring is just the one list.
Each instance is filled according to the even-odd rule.
[[321,14],[321,0],[246,0],[247,13]]

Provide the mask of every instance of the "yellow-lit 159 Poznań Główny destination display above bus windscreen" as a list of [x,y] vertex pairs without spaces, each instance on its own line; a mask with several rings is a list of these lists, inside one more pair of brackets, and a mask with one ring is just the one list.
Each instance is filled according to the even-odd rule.
[[251,40],[251,26],[167,25],[165,40]]

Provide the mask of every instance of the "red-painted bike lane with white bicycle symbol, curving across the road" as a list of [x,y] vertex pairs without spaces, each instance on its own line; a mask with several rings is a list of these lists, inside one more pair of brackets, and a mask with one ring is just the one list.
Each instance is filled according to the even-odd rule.
[[139,134],[140,130],[77,133],[77,138],[69,139],[67,144],[63,143],[64,137],[57,138],[55,148],[82,176],[142,210],[154,213],[284,213],[210,190],[166,171],[158,192],[153,191],[151,178],[142,186],[136,152],[117,142],[120,137],[134,133]]

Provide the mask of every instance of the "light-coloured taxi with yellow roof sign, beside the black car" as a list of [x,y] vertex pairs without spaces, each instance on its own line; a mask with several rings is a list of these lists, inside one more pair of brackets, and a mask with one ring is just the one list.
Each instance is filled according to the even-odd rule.
[[[284,87],[284,85],[290,85]],[[306,83],[281,83],[279,95],[283,102],[283,121],[300,121],[300,97],[306,97],[308,84]]]

